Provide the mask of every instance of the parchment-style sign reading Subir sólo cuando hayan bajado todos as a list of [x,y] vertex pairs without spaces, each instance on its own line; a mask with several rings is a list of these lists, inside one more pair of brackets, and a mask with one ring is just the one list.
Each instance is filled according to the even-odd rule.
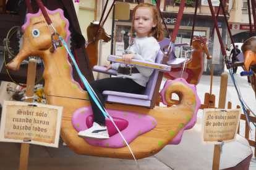
[[0,141],[58,147],[63,107],[4,101]]

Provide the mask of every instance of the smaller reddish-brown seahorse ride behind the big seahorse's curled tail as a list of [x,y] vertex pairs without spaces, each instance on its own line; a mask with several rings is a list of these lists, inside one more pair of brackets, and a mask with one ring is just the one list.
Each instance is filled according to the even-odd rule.
[[[196,36],[193,39],[192,48],[197,50],[192,53],[192,59],[186,63],[181,77],[186,79],[187,83],[197,85],[203,73],[203,52],[207,54],[208,60],[212,59],[212,57],[207,49],[207,38]],[[183,67],[184,65],[178,68],[172,68],[169,73],[164,73],[164,78],[176,79]]]

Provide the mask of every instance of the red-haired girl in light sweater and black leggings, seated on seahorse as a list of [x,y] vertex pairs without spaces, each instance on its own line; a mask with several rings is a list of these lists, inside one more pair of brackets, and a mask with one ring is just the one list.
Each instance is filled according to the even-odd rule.
[[[160,50],[158,42],[164,38],[164,30],[161,26],[160,14],[156,6],[145,3],[136,6],[133,10],[132,26],[134,26],[137,37],[123,52],[122,60],[126,64],[113,63],[106,65],[106,71],[111,68],[117,70],[117,77],[99,79],[90,83],[104,107],[103,91],[140,94],[145,88],[149,76],[153,73],[151,68],[136,66],[132,68],[132,74],[130,75],[130,67],[127,67],[127,64],[130,63],[131,59],[155,62]],[[80,131],[78,136],[86,139],[109,139],[105,116],[90,95],[89,98],[92,105],[94,123],[90,129]]]

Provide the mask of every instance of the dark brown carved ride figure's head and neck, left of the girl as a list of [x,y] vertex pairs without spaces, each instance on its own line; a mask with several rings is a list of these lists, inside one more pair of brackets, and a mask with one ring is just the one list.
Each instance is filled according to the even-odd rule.
[[96,34],[96,38],[93,41],[95,32],[97,30],[97,27],[99,25],[99,22],[91,22],[90,25],[87,27],[87,37],[88,37],[88,44],[87,45],[87,54],[90,60],[91,67],[98,64],[98,43],[100,39],[103,39],[105,42],[108,42],[111,40],[111,36],[105,33],[105,30],[100,25],[100,28],[98,30],[98,33]]

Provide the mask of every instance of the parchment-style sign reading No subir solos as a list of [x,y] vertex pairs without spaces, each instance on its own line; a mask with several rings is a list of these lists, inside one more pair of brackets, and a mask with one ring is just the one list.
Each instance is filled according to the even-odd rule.
[[221,144],[236,140],[237,129],[241,116],[241,109],[203,110],[201,144]]

